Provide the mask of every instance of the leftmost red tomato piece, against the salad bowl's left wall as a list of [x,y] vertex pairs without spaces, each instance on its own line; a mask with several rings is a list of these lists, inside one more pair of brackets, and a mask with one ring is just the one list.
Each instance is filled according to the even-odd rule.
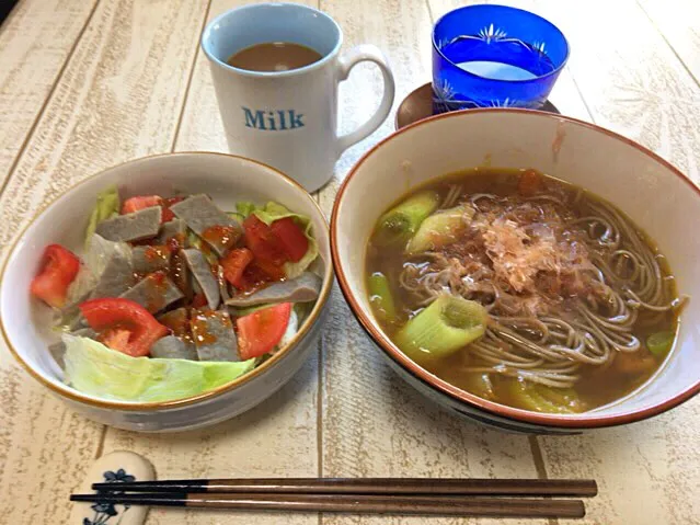
[[30,290],[54,308],[66,304],[68,287],[80,271],[80,259],[60,244],[44,249],[39,271],[32,279]]

